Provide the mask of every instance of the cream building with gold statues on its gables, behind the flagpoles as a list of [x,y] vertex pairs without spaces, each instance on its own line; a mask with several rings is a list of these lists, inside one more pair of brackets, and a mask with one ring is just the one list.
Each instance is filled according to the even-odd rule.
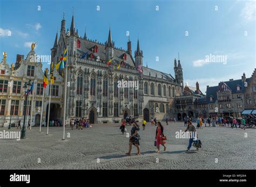
[[[23,86],[29,80],[31,80],[31,83],[34,82],[35,86],[33,103],[32,95],[30,99],[28,98],[28,116],[26,116],[26,119],[31,119],[30,116],[32,115],[31,125],[39,126],[40,124],[44,73],[42,62],[37,62],[35,56],[37,55],[31,48],[25,59],[24,55],[17,55],[16,63],[12,63],[11,67],[9,67],[7,56],[4,56],[0,63],[0,127],[9,126],[11,115],[12,126],[17,126],[19,120],[23,125],[25,99]],[[53,71],[53,76],[55,77],[55,83],[52,85],[50,117],[61,120],[63,78],[59,76],[56,70]],[[14,105],[11,106],[11,103],[14,103]],[[48,104],[49,86],[46,88],[44,96],[43,125],[46,124]]]

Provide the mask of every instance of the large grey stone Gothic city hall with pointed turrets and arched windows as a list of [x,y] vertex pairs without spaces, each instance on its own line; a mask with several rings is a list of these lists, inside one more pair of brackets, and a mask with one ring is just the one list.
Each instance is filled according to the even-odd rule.
[[[59,39],[58,39],[59,38]],[[114,45],[109,28],[106,42],[78,35],[75,17],[66,30],[65,18],[61,21],[60,35],[56,34],[51,49],[52,61],[57,62],[69,44],[66,116],[89,118],[91,123],[120,122],[126,116],[149,121],[174,117],[174,98],[183,91],[183,70],[180,61],[174,61],[175,78],[143,66],[143,51],[139,40],[132,55],[132,42],[127,49]],[[106,62],[112,60],[112,65]],[[121,66],[117,69],[118,64]],[[143,73],[139,73],[141,67]],[[60,72],[60,74],[62,74]],[[119,81],[138,82],[136,88],[118,87]],[[136,85],[136,84],[135,84]]]

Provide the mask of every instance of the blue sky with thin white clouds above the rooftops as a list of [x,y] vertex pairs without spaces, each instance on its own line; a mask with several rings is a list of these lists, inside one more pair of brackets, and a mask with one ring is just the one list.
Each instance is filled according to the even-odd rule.
[[[100,42],[107,40],[109,26],[116,47],[127,48],[130,32],[132,53],[139,37],[144,66],[173,72],[180,54],[184,82],[201,91],[230,78],[252,75],[256,67],[255,1],[0,1],[0,52],[8,62],[16,54],[27,55],[32,41],[38,55],[50,55],[65,12],[66,28],[75,12],[79,35]],[[97,5],[100,10],[97,11]],[[38,6],[41,10],[38,11]],[[159,10],[156,10],[156,6]],[[11,36],[8,36],[11,31]],[[224,55],[227,60],[207,62],[206,55]],[[156,57],[159,61],[156,61]],[[48,67],[43,63],[43,68]]]

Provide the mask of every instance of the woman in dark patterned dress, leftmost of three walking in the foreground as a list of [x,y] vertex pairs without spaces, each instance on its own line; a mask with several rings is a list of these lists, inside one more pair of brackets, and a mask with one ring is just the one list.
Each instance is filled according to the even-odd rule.
[[139,148],[139,127],[136,123],[132,123],[131,135],[129,140],[129,151],[125,153],[126,155],[131,155],[132,145],[137,147],[138,153],[136,155],[140,155],[140,148]]

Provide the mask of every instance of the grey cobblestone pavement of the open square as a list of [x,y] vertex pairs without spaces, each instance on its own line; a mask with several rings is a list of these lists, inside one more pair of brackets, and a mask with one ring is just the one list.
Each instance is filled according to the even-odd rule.
[[[163,124],[167,150],[161,147],[156,153],[156,126],[148,123],[145,131],[140,125],[142,154],[136,155],[133,146],[132,156],[125,155],[129,138],[122,135],[119,124],[95,124],[91,130],[66,127],[70,138],[65,140],[63,127],[50,127],[49,135],[45,127],[42,133],[32,127],[26,139],[0,139],[0,169],[256,169],[256,128],[204,127],[198,130],[203,147],[187,153],[188,139],[175,138],[177,131],[185,130],[183,123]],[[126,128],[130,133],[131,126]]]

